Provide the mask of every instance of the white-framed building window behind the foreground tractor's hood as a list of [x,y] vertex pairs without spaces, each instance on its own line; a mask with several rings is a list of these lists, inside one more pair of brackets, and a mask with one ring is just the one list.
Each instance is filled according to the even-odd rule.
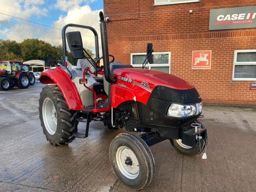
[[[146,53],[131,53],[131,65],[135,68],[142,68],[146,56]],[[147,69],[170,73],[171,52],[153,52],[152,57],[154,63],[147,63],[145,66]]]

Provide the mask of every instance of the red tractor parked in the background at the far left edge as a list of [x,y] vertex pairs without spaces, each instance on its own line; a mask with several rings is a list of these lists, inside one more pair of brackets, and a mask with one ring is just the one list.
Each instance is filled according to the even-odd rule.
[[17,86],[28,88],[29,76],[23,71],[21,61],[0,61],[0,90],[6,91]]

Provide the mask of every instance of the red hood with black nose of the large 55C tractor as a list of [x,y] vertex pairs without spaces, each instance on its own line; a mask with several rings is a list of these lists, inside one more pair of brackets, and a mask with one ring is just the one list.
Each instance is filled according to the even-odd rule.
[[112,78],[117,79],[111,88],[111,97],[113,100],[116,99],[112,102],[114,107],[125,100],[136,100],[146,104],[149,98],[178,103],[201,102],[201,97],[192,84],[161,71],[116,68],[113,70]]

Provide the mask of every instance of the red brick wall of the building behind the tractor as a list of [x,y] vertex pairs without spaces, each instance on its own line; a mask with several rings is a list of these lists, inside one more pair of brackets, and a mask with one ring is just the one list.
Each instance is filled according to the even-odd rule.
[[[232,81],[234,50],[256,49],[255,28],[209,31],[210,9],[256,6],[255,0],[153,4],[104,0],[109,54],[116,61],[130,64],[130,53],[145,52],[151,42],[154,52],[171,52],[171,74],[192,83],[204,102],[256,104],[256,90],[249,90],[256,81]],[[129,20],[115,21],[123,19]],[[211,69],[191,69],[194,50],[212,51]]]

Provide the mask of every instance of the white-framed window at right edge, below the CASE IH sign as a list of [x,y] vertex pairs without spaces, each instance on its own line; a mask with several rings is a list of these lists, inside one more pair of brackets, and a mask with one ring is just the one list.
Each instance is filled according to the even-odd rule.
[[235,50],[232,80],[256,80],[256,49]]

